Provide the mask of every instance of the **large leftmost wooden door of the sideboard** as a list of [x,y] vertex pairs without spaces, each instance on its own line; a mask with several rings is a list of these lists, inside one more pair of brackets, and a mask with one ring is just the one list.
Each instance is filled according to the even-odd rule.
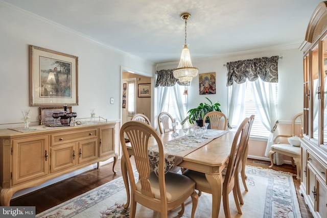
[[48,174],[49,136],[13,140],[13,185]]

